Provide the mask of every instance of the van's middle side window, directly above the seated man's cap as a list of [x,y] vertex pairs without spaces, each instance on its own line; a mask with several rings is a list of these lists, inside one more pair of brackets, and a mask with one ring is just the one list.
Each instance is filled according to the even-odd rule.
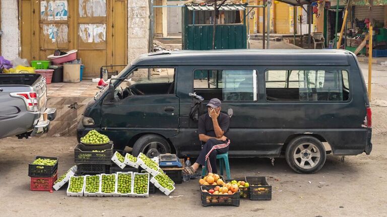
[[195,70],[193,89],[205,100],[256,101],[256,70]]

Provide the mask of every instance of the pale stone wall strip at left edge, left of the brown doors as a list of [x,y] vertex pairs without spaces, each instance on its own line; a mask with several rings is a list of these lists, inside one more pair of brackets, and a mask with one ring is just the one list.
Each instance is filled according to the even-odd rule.
[[18,0],[0,0],[2,30],[0,37],[2,43],[2,55],[13,60],[19,56],[19,10]]

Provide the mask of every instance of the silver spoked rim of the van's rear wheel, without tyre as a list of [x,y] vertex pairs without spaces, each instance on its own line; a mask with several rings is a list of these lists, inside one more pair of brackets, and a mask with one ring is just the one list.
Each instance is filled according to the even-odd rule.
[[302,169],[314,168],[321,159],[321,153],[315,144],[310,142],[301,143],[293,153],[294,163]]

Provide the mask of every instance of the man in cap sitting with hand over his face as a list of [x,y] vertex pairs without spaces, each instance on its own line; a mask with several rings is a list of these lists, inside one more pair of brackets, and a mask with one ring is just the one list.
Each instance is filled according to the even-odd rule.
[[226,133],[230,126],[230,117],[221,113],[222,102],[217,99],[211,99],[207,104],[208,113],[199,117],[198,134],[199,140],[206,142],[199,154],[198,160],[184,172],[192,175],[196,173],[200,165],[205,165],[209,173],[217,173],[216,155],[224,154],[228,151],[230,140]]

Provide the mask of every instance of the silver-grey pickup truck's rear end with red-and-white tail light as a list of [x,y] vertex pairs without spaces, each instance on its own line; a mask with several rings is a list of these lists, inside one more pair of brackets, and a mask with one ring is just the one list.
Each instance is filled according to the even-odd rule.
[[[56,109],[46,108],[46,80],[38,74],[0,74],[0,138],[48,131]],[[47,113],[47,118],[44,118]]]

